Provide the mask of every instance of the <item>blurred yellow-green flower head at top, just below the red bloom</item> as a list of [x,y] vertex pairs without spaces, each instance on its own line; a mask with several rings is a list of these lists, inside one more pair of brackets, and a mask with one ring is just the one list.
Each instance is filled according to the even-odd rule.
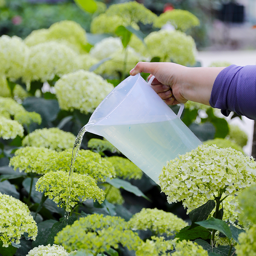
[[180,9],[172,10],[172,12],[161,13],[155,20],[154,26],[156,28],[161,28],[167,22],[171,23],[175,29],[182,32],[200,25],[200,21],[194,14]]

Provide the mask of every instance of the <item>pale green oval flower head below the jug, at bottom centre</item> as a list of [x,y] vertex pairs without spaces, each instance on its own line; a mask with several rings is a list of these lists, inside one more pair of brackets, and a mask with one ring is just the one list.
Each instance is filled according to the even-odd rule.
[[164,212],[158,209],[143,208],[140,212],[135,213],[128,221],[132,230],[151,230],[156,235],[166,233],[172,236],[181,228],[188,226],[188,223],[178,218],[171,212]]

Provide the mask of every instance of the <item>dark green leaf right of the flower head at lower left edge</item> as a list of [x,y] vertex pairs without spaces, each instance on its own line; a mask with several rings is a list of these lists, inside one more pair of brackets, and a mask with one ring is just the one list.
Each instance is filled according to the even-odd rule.
[[37,236],[36,241],[32,242],[33,247],[38,247],[39,245],[47,245],[48,236],[51,233],[53,224],[57,223],[56,220],[45,220],[37,224]]

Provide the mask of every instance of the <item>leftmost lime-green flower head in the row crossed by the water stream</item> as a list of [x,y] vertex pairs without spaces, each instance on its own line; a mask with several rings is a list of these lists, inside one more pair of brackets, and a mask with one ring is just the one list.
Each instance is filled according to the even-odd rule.
[[10,159],[9,166],[13,166],[14,170],[19,168],[20,172],[44,174],[52,171],[49,166],[56,155],[56,151],[43,147],[19,148]]

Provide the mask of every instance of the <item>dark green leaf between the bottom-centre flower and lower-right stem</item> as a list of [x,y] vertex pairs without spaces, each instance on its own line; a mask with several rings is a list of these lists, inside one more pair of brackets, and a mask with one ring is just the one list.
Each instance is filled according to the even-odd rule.
[[179,233],[176,234],[175,238],[179,238],[180,241],[182,240],[195,240],[196,238],[201,239],[210,239],[211,232],[201,226],[197,226],[193,229],[189,229],[190,226],[180,229]]

